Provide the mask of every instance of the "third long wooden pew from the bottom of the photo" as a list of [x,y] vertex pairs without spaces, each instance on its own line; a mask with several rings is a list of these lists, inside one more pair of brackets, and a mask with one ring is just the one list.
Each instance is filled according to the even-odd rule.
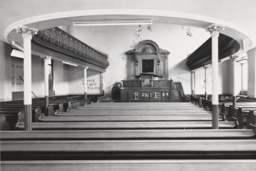
[[248,139],[253,129],[225,130],[76,130],[76,131],[0,131],[0,140],[92,140],[92,139]]

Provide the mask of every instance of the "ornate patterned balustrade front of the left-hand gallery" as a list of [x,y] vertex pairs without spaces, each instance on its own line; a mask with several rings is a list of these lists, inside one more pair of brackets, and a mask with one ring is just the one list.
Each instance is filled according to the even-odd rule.
[[92,63],[96,66],[103,68],[109,66],[108,56],[106,54],[89,47],[58,27],[38,31],[33,37],[33,43],[76,57],[79,60]]

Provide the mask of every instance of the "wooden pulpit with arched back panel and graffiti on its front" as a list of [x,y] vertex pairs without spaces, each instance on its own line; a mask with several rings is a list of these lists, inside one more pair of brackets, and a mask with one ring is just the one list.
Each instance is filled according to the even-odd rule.
[[140,42],[128,56],[127,80],[122,80],[123,102],[170,102],[173,81],[168,76],[168,55],[152,40]]

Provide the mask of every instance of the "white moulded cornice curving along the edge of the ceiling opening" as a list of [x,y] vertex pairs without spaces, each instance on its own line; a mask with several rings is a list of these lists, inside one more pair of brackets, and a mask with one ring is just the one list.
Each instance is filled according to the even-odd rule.
[[[13,31],[16,27],[20,27],[22,25],[31,24],[39,21],[47,21],[57,18],[72,18],[72,17],[79,17],[79,16],[89,16],[89,15],[151,15],[151,16],[158,16],[158,17],[169,17],[169,18],[180,18],[182,19],[189,19],[193,21],[198,21],[199,23],[203,22],[206,25],[210,23],[220,23],[225,25],[226,27],[230,27],[235,31],[238,31],[248,37],[243,31],[241,27],[238,27],[235,24],[232,24],[228,21],[222,21],[217,18],[209,18],[202,15],[194,15],[188,13],[179,13],[173,11],[162,11],[162,10],[144,10],[144,9],[96,9],[96,10],[86,10],[86,11],[65,11],[62,13],[53,13],[49,15],[40,15],[35,16],[32,18],[26,18],[21,21],[17,21],[8,27],[6,27],[4,31],[4,38],[8,41],[8,34]],[[174,23],[175,24],[175,23]],[[235,35],[234,35],[235,36]],[[235,37],[234,37],[235,38]]]

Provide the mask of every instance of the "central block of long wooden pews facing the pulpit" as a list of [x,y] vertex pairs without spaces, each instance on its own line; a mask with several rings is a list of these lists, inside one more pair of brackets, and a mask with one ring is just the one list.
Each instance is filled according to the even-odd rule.
[[[35,122],[37,121],[37,122]],[[40,114],[33,131],[1,131],[2,170],[231,170],[256,168],[253,124],[188,102],[108,102]]]

